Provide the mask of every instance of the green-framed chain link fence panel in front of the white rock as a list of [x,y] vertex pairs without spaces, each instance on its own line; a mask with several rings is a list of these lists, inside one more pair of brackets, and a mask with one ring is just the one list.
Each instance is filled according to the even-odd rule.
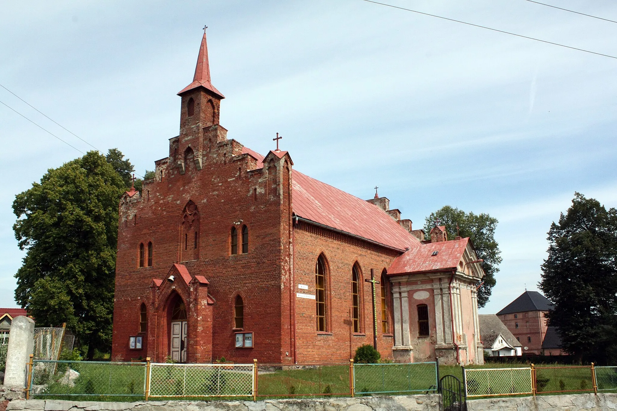
[[[146,363],[33,360],[30,397],[143,397]],[[115,399],[121,401],[121,399]]]

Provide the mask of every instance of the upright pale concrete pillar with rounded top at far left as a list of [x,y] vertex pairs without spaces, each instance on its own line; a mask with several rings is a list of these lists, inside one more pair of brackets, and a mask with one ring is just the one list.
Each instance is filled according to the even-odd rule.
[[6,352],[4,385],[25,387],[27,365],[35,345],[35,322],[20,315],[10,323],[9,347]]

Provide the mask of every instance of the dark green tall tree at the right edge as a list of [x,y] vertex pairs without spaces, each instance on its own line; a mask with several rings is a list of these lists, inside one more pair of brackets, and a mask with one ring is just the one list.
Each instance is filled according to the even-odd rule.
[[579,359],[617,361],[617,210],[574,193],[549,230],[540,288],[555,304],[549,324]]

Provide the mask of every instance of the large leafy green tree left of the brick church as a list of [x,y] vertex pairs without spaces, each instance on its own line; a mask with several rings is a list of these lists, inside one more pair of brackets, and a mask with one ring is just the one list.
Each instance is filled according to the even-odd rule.
[[88,345],[88,359],[111,341],[118,199],[125,189],[106,157],[91,151],[49,169],[13,202],[15,238],[27,250],[15,299],[39,325],[66,322]]

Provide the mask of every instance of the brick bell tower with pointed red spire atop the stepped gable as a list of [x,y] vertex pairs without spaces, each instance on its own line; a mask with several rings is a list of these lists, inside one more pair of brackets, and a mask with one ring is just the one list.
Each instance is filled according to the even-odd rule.
[[[197,169],[201,169],[202,153],[205,147],[220,140],[218,118],[221,100],[225,96],[210,81],[210,63],[208,45],[204,36],[199,47],[199,56],[195,67],[193,83],[184,87],[178,96],[182,98],[180,108],[180,136],[170,140],[170,157],[184,174],[187,160],[193,160]],[[211,136],[215,140],[210,142]],[[205,138],[204,138],[205,137]],[[206,141],[204,141],[204,139]],[[225,139],[225,137],[223,137]],[[205,143],[205,144],[204,144]]]

